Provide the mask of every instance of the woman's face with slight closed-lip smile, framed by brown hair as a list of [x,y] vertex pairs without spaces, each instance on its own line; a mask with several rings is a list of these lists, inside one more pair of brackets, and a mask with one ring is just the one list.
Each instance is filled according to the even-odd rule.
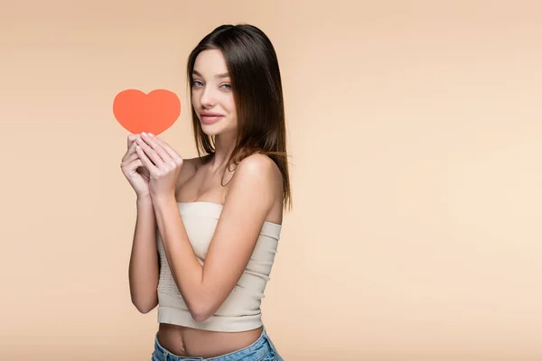
[[196,58],[192,71],[192,106],[203,133],[237,131],[237,114],[226,60],[220,50],[206,50]]

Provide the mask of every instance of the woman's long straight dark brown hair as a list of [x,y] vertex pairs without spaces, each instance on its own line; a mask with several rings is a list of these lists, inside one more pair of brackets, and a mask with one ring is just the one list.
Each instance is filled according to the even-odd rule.
[[[276,52],[266,34],[249,24],[221,25],[205,36],[188,58],[187,79],[201,51],[218,49],[226,60],[238,115],[238,139],[230,164],[236,166],[253,153],[266,154],[282,173],[283,207],[292,208],[286,153],[285,108]],[[192,91],[189,92],[192,104]],[[192,129],[198,154],[212,155],[213,136],[203,133],[193,106]],[[210,160],[210,157],[205,157]]]

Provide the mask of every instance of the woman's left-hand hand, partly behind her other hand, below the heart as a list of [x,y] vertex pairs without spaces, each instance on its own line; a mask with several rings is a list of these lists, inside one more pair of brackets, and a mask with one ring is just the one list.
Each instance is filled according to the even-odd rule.
[[143,199],[151,196],[149,188],[149,171],[145,168],[143,162],[139,159],[139,155],[135,150],[137,145],[136,139],[140,138],[139,134],[128,135],[127,151],[122,157],[120,169],[135,190],[137,198]]

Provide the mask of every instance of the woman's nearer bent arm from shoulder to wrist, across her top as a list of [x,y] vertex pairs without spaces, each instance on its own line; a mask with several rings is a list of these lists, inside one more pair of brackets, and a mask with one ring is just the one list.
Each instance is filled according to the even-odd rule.
[[238,164],[203,266],[173,196],[153,199],[173,280],[196,321],[209,319],[235,287],[281,186],[280,171],[265,155],[253,154]]

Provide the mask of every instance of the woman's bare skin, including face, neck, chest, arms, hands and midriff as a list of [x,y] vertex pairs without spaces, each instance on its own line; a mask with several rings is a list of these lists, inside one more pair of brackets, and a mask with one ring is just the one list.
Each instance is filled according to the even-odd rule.
[[[137,195],[137,220],[130,258],[132,301],[147,313],[157,306],[158,256],[156,229],[173,279],[192,318],[204,321],[220,308],[238,282],[256,246],[264,221],[282,223],[282,177],[269,157],[253,154],[226,170],[234,145],[237,116],[228,69],[220,51],[202,51],[194,67],[192,106],[222,117],[201,124],[216,135],[210,162],[187,159],[152,134],[131,134],[121,167]],[[222,175],[226,172],[226,177]],[[229,183],[227,187],[223,184]],[[223,205],[205,263],[201,265],[186,234],[178,202],[205,201]],[[212,357],[247,347],[262,328],[215,332],[160,324],[158,340],[173,354]]]

